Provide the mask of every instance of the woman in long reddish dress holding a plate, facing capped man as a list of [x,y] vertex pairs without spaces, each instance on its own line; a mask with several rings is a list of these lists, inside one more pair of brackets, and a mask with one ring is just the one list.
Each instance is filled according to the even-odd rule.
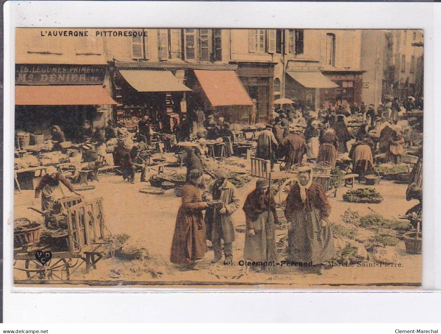
[[208,203],[202,201],[199,188],[203,174],[194,169],[189,173],[190,181],[181,189],[182,204],[176,217],[170,261],[183,270],[198,270],[195,261],[202,259],[207,250],[206,226],[202,210]]

